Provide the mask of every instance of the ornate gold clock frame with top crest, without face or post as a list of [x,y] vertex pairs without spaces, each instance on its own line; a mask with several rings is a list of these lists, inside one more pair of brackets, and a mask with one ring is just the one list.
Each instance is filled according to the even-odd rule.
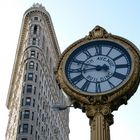
[[[87,95],[80,94],[80,91],[73,88],[65,77],[64,65],[68,56],[79,46],[94,40],[109,40],[123,46],[130,54],[132,59],[132,70],[129,77],[122,86],[116,88],[108,94]],[[135,93],[140,82],[140,52],[136,46],[125,38],[108,33],[104,28],[96,26],[89,32],[88,36],[71,44],[61,55],[56,68],[56,79],[64,92],[70,96],[72,100],[84,104],[108,104],[112,103],[113,107],[119,107],[126,103],[127,100]]]

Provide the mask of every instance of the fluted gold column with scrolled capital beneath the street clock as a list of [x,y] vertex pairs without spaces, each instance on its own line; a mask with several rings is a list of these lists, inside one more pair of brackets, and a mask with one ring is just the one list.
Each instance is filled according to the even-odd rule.
[[90,120],[90,140],[110,140],[109,126],[113,124],[113,115],[107,105],[89,105],[86,109]]

